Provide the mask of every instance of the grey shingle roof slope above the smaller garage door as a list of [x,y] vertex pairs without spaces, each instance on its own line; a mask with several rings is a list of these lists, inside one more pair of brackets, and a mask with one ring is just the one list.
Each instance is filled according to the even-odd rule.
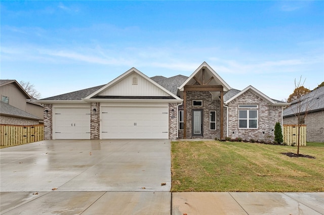
[[87,89],[83,89],[83,90],[77,90],[74,92],[64,93],[61,95],[55,95],[52,97],[43,98],[39,101],[41,102],[42,100],[81,100],[82,98],[87,97],[88,95],[97,91],[98,89],[100,89],[103,86],[105,86],[105,85],[91,87],[91,88],[87,88]]

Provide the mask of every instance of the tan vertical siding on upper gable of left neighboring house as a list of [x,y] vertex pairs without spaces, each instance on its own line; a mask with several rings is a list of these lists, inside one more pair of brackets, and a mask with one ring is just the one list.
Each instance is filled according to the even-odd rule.
[[26,95],[22,93],[14,83],[4,85],[0,88],[1,96],[9,97],[9,104],[22,111],[26,111]]

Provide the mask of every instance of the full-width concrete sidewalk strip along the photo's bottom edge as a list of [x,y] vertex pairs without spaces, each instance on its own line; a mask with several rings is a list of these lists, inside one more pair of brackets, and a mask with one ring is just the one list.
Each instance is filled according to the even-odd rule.
[[[324,214],[324,193],[2,192],[1,214]],[[172,205],[171,205],[172,199]]]

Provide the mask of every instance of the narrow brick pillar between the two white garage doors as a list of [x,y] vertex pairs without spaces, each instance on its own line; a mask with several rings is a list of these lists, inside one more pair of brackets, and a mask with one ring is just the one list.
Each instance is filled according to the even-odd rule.
[[[94,111],[94,109],[96,111]],[[100,103],[91,102],[90,139],[98,140],[99,138],[100,138]]]

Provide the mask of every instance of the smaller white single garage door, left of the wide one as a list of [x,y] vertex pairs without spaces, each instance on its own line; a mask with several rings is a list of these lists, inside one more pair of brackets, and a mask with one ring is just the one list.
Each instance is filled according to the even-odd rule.
[[90,108],[55,108],[54,139],[90,139]]

